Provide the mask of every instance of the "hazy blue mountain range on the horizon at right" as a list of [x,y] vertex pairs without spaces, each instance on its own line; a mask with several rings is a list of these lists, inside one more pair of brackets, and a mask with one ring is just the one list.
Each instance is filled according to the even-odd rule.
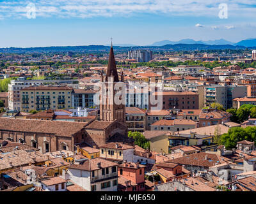
[[239,45],[244,47],[256,47],[256,39],[248,39],[242,40],[237,43],[233,43],[231,41],[227,41],[225,39],[220,40],[209,40],[209,41],[195,41],[193,39],[184,39],[179,41],[170,41],[170,40],[163,40],[153,43],[150,46],[163,46],[163,45],[176,45],[176,44],[204,44],[204,45]]

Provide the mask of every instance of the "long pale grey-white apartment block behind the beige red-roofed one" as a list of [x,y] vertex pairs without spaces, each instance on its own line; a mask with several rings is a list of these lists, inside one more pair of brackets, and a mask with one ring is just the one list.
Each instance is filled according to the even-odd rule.
[[74,89],[79,89],[77,80],[11,80],[8,85],[8,107],[10,110],[21,110],[21,93],[20,90],[25,87],[39,85],[67,85]]

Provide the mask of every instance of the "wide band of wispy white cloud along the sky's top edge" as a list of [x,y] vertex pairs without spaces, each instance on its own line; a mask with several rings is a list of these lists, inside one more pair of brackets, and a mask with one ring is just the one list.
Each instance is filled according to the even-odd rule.
[[[2,1],[0,13],[6,17],[26,16],[28,3],[35,3],[38,17],[112,17],[138,13],[218,18],[223,0],[30,0]],[[226,0],[228,16],[254,16],[255,0]],[[246,6],[248,5],[248,6]]]

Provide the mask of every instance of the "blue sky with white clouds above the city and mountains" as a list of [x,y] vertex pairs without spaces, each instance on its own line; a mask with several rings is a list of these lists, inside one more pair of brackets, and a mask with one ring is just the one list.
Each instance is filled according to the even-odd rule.
[[256,38],[256,0],[0,0],[0,47]]

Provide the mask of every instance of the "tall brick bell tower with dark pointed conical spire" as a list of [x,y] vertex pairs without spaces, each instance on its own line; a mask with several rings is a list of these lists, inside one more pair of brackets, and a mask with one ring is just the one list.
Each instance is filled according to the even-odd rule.
[[[115,104],[115,94],[118,91],[114,90],[116,83],[124,82],[124,73],[121,75],[119,81],[116,69],[115,55],[111,41],[111,48],[108,59],[108,69],[106,77],[101,73],[102,86],[100,89],[100,120],[101,121],[114,121],[125,122],[125,103],[120,105]],[[120,96],[119,99],[125,100]]]

